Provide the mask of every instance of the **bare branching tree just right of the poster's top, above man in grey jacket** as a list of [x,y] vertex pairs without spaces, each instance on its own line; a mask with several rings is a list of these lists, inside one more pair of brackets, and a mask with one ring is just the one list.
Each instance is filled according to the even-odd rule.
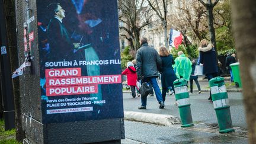
[[[133,57],[140,47],[140,30],[149,24],[149,8],[145,0],[119,0],[120,36],[126,37],[133,51]],[[124,33],[123,33],[124,32]]]

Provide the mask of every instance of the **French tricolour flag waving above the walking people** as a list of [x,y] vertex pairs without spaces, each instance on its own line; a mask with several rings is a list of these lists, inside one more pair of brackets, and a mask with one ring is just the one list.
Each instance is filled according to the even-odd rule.
[[174,30],[171,28],[169,36],[169,46],[175,47],[178,49],[178,46],[182,43],[183,35],[180,31]]

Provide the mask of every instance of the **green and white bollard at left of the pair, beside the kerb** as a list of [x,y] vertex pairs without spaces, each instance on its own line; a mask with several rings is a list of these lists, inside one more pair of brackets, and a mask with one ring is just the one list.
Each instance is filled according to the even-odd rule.
[[194,126],[191,116],[187,81],[184,78],[174,81],[174,90],[175,98],[177,100],[178,108],[180,110],[181,127]]

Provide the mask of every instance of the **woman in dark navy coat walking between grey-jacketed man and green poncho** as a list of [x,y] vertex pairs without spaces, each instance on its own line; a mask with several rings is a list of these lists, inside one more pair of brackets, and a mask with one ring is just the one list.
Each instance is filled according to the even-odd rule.
[[162,84],[162,98],[165,101],[166,93],[169,90],[174,93],[173,82],[178,79],[175,75],[172,65],[174,65],[174,59],[165,47],[159,47],[159,56],[162,60],[161,72],[161,84]]

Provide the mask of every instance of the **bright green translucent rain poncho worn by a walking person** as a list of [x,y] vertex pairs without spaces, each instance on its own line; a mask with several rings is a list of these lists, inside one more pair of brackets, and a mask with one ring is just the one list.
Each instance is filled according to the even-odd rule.
[[177,78],[183,76],[183,78],[188,81],[190,79],[190,73],[192,71],[192,62],[190,61],[190,59],[188,59],[188,57],[185,57],[185,55],[183,54],[178,56],[174,61]]

